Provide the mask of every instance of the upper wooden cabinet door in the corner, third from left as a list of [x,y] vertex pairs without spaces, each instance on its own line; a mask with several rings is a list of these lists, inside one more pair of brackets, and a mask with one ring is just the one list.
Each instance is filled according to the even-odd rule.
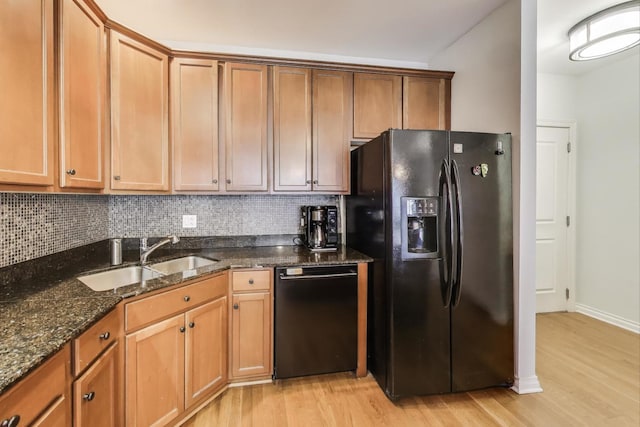
[[111,188],[169,189],[168,58],[111,31]]

